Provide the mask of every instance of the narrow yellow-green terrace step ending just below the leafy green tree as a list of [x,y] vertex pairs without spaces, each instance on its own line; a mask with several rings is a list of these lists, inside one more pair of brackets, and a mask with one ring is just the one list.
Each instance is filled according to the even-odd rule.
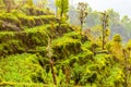
[[39,15],[39,16],[17,16],[23,26],[34,27],[43,24],[58,23],[59,20],[55,15]]

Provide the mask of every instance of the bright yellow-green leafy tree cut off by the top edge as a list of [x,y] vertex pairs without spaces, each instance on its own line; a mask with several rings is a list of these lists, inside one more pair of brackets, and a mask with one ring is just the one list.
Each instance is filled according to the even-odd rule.
[[60,17],[69,11],[69,0],[56,0],[56,7],[60,12]]

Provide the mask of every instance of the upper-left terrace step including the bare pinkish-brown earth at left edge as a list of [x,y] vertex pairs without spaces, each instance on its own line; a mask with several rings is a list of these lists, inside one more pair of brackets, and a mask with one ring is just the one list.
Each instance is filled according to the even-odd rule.
[[55,15],[25,15],[23,13],[1,13],[0,30],[23,30],[50,23],[59,23]]

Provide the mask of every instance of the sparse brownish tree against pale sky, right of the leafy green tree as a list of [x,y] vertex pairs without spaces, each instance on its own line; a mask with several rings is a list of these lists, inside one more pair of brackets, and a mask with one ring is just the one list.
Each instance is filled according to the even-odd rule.
[[79,20],[81,23],[81,32],[82,32],[83,24],[85,22],[86,16],[87,16],[87,3],[86,2],[79,2],[78,10],[79,10]]

